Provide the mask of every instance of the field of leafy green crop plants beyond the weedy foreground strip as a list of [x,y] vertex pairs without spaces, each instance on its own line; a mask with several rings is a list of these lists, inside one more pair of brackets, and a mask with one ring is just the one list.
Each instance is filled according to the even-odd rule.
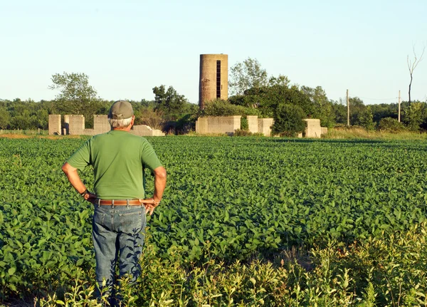
[[[93,274],[91,204],[60,166],[86,138],[0,137],[0,284],[51,289]],[[149,220],[156,253],[203,264],[347,246],[427,218],[427,142],[151,137],[168,171]],[[152,180],[148,175],[148,193]],[[88,168],[83,179],[92,187]],[[209,246],[209,249],[206,248]]]

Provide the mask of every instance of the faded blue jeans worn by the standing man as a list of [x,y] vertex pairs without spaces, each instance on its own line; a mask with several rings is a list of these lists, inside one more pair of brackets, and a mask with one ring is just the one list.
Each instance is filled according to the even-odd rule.
[[[132,281],[136,281],[141,270],[139,257],[144,245],[145,225],[145,207],[142,205],[95,204],[92,236],[98,291],[111,293],[117,258],[120,277],[128,274]],[[105,287],[102,286],[104,280]]]

